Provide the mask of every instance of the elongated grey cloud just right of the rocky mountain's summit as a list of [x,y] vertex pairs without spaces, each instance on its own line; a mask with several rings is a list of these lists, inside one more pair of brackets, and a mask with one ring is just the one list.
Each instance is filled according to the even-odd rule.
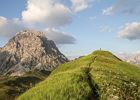
[[56,44],[74,44],[76,39],[64,32],[60,32],[54,28],[47,28],[44,30],[46,37],[53,40]]

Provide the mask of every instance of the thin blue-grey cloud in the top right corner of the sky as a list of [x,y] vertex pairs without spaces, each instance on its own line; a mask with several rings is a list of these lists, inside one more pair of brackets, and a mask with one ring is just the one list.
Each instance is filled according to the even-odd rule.
[[140,0],[117,0],[117,2],[103,10],[104,15],[114,13],[140,14]]

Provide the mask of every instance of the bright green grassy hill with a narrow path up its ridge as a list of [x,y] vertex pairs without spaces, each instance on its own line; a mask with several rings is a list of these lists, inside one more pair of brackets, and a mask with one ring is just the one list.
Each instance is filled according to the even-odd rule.
[[95,51],[60,65],[18,100],[139,100],[140,69]]

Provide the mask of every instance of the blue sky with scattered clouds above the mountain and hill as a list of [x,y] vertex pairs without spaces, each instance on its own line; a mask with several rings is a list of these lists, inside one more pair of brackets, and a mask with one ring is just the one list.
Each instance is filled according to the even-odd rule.
[[140,0],[0,0],[0,47],[23,29],[43,31],[69,58],[140,51]]

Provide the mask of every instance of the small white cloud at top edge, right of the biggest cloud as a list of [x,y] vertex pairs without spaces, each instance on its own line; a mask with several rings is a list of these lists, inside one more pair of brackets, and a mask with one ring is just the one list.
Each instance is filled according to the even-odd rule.
[[80,12],[89,7],[90,0],[71,0],[74,12]]

